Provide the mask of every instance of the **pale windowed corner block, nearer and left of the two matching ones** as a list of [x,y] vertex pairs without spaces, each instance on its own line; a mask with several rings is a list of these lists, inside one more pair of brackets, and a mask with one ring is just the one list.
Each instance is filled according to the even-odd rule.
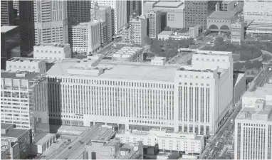
[[46,61],[43,59],[14,57],[6,61],[6,71],[28,71],[34,73],[46,73]]

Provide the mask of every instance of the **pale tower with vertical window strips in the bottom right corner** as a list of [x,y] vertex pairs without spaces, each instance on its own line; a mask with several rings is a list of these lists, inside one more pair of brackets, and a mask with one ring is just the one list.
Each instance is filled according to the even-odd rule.
[[272,159],[272,105],[263,99],[252,105],[235,119],[234,159]]

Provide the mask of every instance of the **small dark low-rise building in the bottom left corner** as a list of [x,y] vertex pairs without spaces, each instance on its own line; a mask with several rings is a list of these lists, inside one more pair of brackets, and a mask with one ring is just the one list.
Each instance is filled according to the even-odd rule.
[[31,131],[1,123],[1,159],[26,159],[30,154]]

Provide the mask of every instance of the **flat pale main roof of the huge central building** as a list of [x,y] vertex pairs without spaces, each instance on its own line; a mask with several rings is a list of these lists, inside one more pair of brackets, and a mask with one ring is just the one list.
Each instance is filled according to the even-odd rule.
[[[75,75],[67,73],[67,69],[78,63],[78,60],[63,60],[48,70],[48,75]],[[150,65],[146,63],[116,63],[100,62],[95,68],[103,68],[104,73],[99,78],[125,79],[125,80],[156,80],[162,82],[174,82],[174,73],[178,66]],[[87,69],[87,68],[86,68]],[[90,75],[80,75],[87,76]]]

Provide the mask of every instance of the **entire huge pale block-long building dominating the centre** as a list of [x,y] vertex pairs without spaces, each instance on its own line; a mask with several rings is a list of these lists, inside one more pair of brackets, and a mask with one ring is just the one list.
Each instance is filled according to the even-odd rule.
[[63,60],[47,72],[51,121],[214,134],[231,110],[232,55],[199,50],[192,65]]

